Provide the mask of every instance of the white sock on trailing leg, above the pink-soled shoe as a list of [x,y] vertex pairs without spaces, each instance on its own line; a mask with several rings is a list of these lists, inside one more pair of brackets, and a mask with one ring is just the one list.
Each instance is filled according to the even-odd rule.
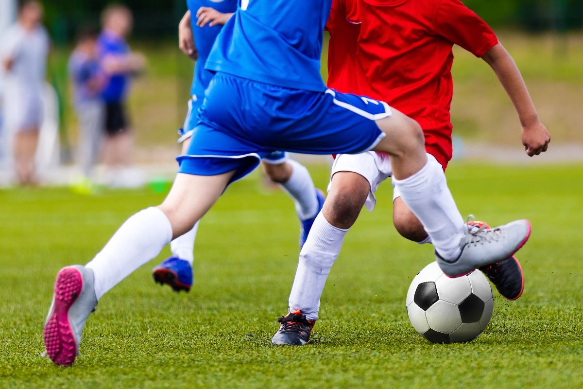
[[160,209],[150,207],[131,216],[86,267],[95,275],[95,295],[108,290],[152,260],[172,240],[172,226]]

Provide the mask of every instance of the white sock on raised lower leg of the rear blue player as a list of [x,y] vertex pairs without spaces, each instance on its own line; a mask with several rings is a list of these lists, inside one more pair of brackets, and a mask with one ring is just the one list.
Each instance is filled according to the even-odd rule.
[[293,170],[289,180],[281,185],[293,199],[300,219],[311,219],[318,213],[318,198],[312,177],[302,164],[291,159],[287,163],[291,165]]

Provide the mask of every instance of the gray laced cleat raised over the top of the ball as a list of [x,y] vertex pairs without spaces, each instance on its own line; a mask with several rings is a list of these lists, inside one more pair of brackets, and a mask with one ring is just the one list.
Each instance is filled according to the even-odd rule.
[[488,229],[487,225],[479,229],[470,226],[459,242],[462,252],[458,258],[447,260],[436,250],[437,263],[449,277],[466,275],[474,269],[512,257],[530,236],[531,223],[528,220],[516,220],[494,229]]

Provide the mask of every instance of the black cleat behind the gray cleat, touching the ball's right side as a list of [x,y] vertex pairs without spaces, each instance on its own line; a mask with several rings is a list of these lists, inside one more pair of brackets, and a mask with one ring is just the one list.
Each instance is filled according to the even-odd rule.
[[[470,226],[490,228],[484,222],[468,222]],[[520,262],[514,255],[503,261],[483,266],[480,271],[496,286],[498,293],[507,300],[517,300],[524,290],[524,275]]]

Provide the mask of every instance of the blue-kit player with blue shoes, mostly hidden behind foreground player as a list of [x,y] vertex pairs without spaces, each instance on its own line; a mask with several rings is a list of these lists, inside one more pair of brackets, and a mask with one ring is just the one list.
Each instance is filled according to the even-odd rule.
[[[205,90],[213,78],[213,73],[205,69],[206,59],[222,26],[237,10],[237,0],[187,0],[187,4],[188,11],[178,26],[178,41],[182,52],[196,59],[196,65],[190,92],[192,99],[188,102],[188,114],[179,139],[179,142],[184,141],[184,152],[188,150],[189,138],[196,127],[198,108],[205,98]],[[276,151],[265,156],[262,166],[267,176],[280,184],[294,201],[300,219],[301,247],[322,209],[324,194],[314,188],[308,170],[300,163],[288,159],[287,153]],[[192,230],[170,243],[172,256],[153,269],[154,281],[161,285],[167,283],[177,292],[190,290],[194,262],[192,250],[197,229],[198,222]]]

